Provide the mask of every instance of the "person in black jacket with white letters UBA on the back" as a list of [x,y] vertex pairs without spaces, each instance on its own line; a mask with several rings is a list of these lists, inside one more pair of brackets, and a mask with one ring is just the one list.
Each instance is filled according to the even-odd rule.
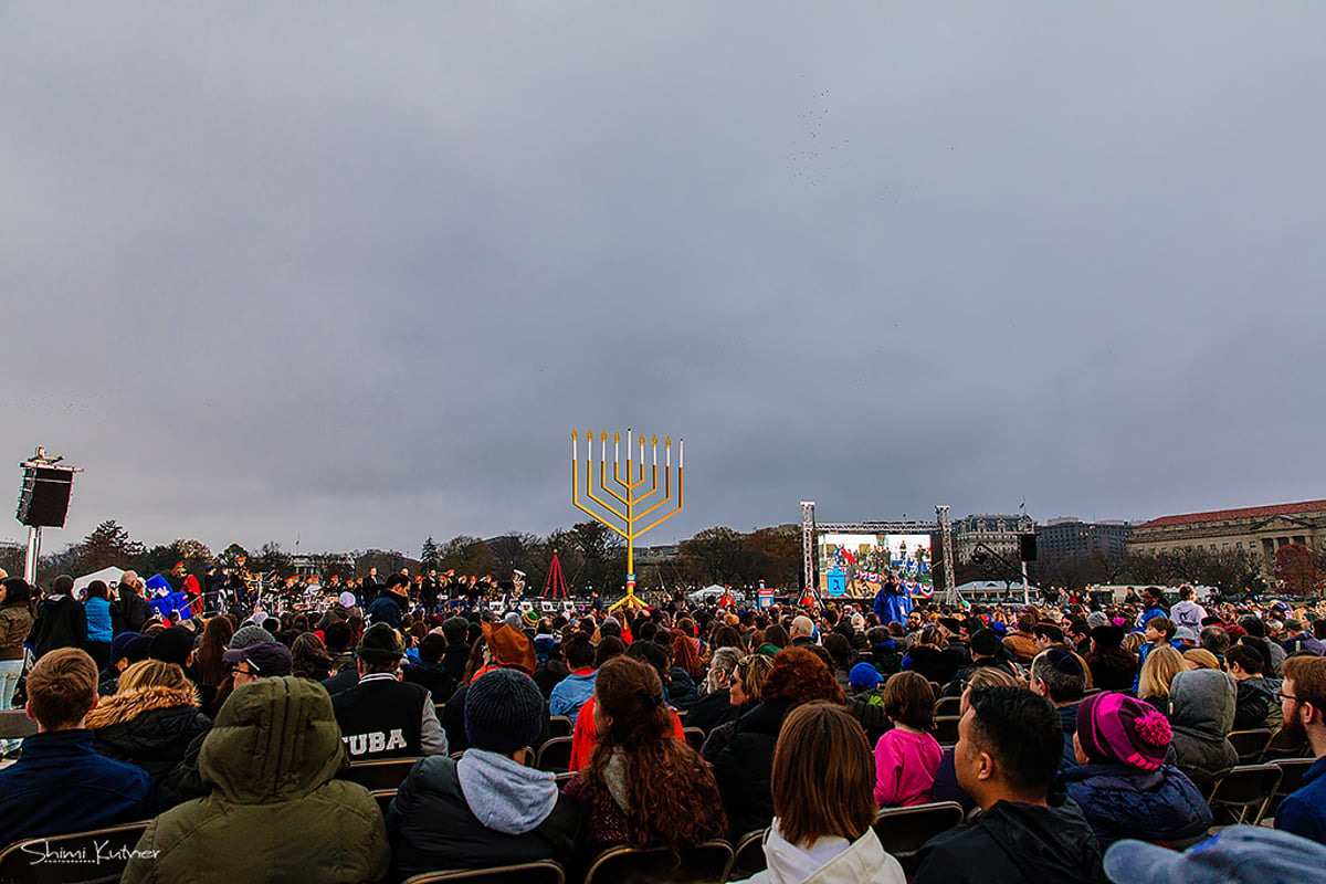
[[447,754],[447,734],[428,689],[398,676],[404,652],[399,634],[386,623],[363,631],[354,649],[359,683],[332,697],[350,761]]

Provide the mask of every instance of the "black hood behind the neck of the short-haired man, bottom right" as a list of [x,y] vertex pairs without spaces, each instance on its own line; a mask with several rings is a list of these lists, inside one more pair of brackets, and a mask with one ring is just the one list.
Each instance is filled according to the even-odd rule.
[[1101,850],[1082,808],[1071,801],[1057,806],[997,802],[972,823],[1021,868],[1029,881],[1095,881]]

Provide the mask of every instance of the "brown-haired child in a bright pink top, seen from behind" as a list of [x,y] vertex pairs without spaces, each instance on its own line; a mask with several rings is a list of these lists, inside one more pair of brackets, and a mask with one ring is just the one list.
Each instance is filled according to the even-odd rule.
[[884,714],[894,722],[875,744],[875,803],[910,807],[930,802],[944,751],[930,733],[935,692],[916,672],[899,672],[884,684]]

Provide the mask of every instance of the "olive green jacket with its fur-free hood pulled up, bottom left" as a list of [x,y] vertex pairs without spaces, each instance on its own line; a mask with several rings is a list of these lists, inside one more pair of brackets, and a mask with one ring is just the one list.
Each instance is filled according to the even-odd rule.
[[377,881],[391,857],[382,811],[335,779],[341,728],[322,685],[260,679],[221,706],[198,766],[212,787],[154,819],[123,881]]

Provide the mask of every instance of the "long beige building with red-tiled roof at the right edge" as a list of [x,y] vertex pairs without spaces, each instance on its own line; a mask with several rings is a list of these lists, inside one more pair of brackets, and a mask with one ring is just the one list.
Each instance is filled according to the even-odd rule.
[[1323,549],[1326,500],[1163,516],[1135,526],[1128,550],[1245,550],[1260,555],[1262,570],[1269,574],[1276,550],[1289,543],[1302,543],[1314,551]]

